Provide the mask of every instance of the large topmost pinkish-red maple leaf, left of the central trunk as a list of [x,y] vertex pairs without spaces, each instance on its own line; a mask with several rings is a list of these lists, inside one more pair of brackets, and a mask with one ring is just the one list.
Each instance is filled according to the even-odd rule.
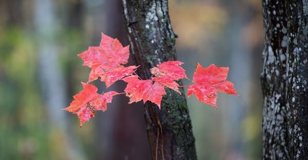
[[120,64],[126,64],[129,57],[129,45],[123,47],[118,39],[113,39],[102,33],[99,47],[89,47],[87,51],[78,56],[84,60],[83,65],[92,69],[89,81],[93,81],[105,72],[117,68]]

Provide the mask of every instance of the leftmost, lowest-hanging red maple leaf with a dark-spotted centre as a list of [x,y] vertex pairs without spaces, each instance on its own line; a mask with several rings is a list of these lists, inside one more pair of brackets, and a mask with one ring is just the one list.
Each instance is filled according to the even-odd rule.
[[64,108],[64,110],[78,115],[80,126],[82,126],[85,121],[89,121],[91,117],[94,117],[92,109],[105,111],[107,103],[112,100],[112,96],[118,95],[118,93],[114,91],[100,95],[97,93],[98,88],[94,85],[81,83],[84,90],[73,96],[74,100],[70,103],[70,106]]

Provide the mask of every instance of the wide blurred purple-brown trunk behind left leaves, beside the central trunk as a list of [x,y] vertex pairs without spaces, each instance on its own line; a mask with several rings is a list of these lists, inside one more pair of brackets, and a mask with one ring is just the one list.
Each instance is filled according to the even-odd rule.
[[[86,39],[93,39],[93,43],[97,44],[101,40],[100,33],[103,32],[112,38],[118,38],[124,46],[127,45],[120,0],[96,3],[84,1],[84,5]],[[94,25],[88,25],[93,24],[92,20],[95,20]],[[131,62],[129,60],[128,63]],[[99,93],[107,92],[104,83],[97,84]],[[108,90],[123,92],[125,86],[125,82],[118,81]],[[128,105],[127,102],[125,95],[115,96],[106,112],[95,113],[94,159],[150,159],[141,103]]]

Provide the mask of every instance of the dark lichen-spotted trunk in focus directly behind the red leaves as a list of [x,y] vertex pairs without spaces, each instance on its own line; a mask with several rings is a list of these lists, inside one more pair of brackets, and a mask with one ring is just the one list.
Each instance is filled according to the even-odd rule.
[[[150,68],[176,60],[175,39],[167,0],[122,0],[130,50],[139,76],[151,77]],[[179,84],[181,85],[181,81]],[[183,89],[182,95],[166,89],[161,110],[145,103],[145,120],[152,159],[197,159],[195,138]]]

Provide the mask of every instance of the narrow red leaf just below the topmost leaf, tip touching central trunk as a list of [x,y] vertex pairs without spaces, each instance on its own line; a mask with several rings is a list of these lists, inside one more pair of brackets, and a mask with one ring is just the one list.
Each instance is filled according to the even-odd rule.
[[105,82],[106,88],[108,88],[115,81],[118,81],[125,76],[132,75],[132,73],[134,73],[136,71],[136,68],[138,67],[139,66],[135,66],[135,65],[131,65],[128,67],[124,67],[123,65],[120,65],[119,67],[104,73],[101,76],[101,81]]

